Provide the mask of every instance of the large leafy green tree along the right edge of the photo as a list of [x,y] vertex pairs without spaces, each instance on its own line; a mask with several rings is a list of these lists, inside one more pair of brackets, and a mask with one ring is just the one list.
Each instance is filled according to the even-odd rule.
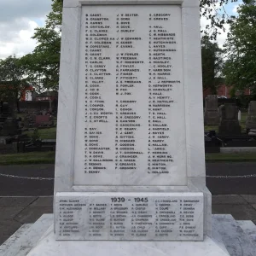
[[236,90],[249,88],[256,94],[256,1],[240,5],[238,16],[230,22],[230,33],[224,44],[226,84]]

